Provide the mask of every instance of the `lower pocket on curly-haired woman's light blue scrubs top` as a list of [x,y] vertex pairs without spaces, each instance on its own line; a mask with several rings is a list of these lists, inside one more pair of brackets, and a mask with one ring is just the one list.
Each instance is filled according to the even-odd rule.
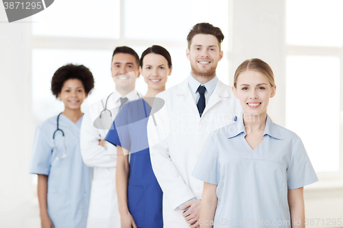
[[55,227],[71,225],[69,194],[47,193],[47,212]]

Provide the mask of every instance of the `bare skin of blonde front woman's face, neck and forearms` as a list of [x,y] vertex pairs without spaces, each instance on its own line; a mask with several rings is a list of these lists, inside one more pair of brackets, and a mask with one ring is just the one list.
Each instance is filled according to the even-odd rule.
[[[276,86],[271,86],[267,77],[258,71],[246,70],[237,78],[237,88],[233,87],[233,94],[243,108],[243,121],[246,127],[246,142],[251,149],[255,149],[263,140],[267,107],[270,98],[274,97]],[[211,221],[215,217],[217,208],[217,185],[204,182],[202,192],[202,205],[200,218],[203,221]],[[305,227],[305,203],[303,187],[287,190],[289,212],[292,227]],[[294,224],[294,220],[301,220],[300,225]],[[213,225],[201,225],[201,228],[213,227]]]

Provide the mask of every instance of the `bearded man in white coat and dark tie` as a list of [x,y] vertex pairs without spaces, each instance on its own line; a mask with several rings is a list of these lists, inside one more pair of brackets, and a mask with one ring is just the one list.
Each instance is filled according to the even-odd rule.
[[148,123],[152,168],[163,190],[164,227],[199,227],[203,182],[191,173],[209,134],[241,113],[231,87],[215,74],[223,39],[218,27],[194,25],[186,51],[191,74],[157,95],[165,105]]

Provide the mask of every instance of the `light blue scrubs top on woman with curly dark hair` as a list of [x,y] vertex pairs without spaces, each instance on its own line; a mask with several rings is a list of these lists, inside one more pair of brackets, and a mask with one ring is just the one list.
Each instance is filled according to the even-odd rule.
[[[82,117],[73,123],[60,115],[59,128],[64,131],[67,157],[56,160],[52,136],[57,129],[57,116],[38,125],[34,137],[29,173],[47,175],[47,212],[55,228],[86,228],[91,171],[84,164],[80,151]],[[55,134],[58,154],[63,153],[60,131]]]

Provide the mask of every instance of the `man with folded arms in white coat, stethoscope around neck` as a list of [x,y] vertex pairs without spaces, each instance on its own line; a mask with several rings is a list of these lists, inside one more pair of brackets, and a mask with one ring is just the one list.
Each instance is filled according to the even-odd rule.
[[133,49],[117,47],[113,52],[110,71],[115,81],[115,91],[102,99],[102,102],[91,105],[84,114],[81,125],[82,159],[87,166],[94,167],[87,228],[121,227],[115,187],[117,147],[104,140],[110,128],[94,127],[95,120],[92,117],[99,116],[106,104],[106,111],[102,112],[102,116],[110,116],[112,123],[123,103],[141,97],[134,89],[139,77],[139,56]]

